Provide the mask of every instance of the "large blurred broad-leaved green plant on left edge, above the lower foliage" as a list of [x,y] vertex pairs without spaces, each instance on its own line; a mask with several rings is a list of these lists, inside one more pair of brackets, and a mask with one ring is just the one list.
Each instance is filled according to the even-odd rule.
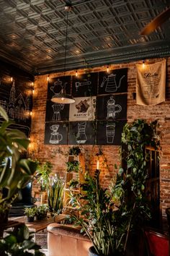
[[0,221],[4,223],[5,213],[18,189],[30,182],[37,164],[21,157],[21,153],[27,150],[29,140],[18,129],[10,129],[13,122],[1,106],[0,116]]

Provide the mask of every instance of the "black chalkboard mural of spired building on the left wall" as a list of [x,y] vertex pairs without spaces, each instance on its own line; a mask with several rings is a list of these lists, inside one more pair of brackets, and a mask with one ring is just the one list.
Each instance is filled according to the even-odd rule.
[[9,119],[14,120],[13,128],[30,135],[32,111],[32,82],[19,77],[4,75],[0,80],[0,105]]

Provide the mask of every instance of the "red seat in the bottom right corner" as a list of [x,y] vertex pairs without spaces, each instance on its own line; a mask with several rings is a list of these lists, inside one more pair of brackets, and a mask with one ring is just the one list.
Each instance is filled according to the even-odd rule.
[[152,256],[169,256],[169,237],[154,231],[145,229],[147,240],[148,255]]

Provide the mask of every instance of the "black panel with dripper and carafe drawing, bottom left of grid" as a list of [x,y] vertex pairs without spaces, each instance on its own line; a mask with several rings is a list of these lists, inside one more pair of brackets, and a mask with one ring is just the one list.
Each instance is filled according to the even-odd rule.
[[66,145],[68,141],[68,124],[65,122],[45,123],[45,144]]

